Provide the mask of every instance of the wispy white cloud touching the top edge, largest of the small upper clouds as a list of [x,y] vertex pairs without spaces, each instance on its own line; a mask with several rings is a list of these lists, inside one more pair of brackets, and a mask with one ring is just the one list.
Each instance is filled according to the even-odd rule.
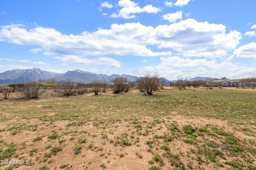
[[158,13],[161,11],[160,8],[154,7],[153,5],[146,5],[144,7],[140,7],[138,3],[135,3],[131,0],[120,0],[118,2],[118,6],[121,6],[122,9],[118,14],[113,13],[111,16],[113,18],[121,17],[124,19],[132,19],[135,18],[136,13]]

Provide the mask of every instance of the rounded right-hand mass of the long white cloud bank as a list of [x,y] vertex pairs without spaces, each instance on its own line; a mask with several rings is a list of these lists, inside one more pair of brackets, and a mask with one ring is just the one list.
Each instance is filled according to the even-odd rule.
[[226,32],[225,25],[187,19],[156,28],[158,48],[172,48],[184,56],[222,57],[236,48],[242,38],[238,31]]

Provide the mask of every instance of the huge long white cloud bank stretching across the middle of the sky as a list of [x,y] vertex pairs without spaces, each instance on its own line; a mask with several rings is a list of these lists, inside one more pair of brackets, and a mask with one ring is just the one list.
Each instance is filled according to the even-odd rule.
[[[187,19],[156,28],[139,22],[111,24],[110,29],[65,35],[52,28],[21,27],[0,29],[0,41],[18,45],[35,45],[45,55],[168,56],[175,50],[190,57],[222,57],[236,48],[238,31],[226,32],[225,25]],[[158,48],[153,52],[149,46]],[[35,51],[35,50],[34,50]]]

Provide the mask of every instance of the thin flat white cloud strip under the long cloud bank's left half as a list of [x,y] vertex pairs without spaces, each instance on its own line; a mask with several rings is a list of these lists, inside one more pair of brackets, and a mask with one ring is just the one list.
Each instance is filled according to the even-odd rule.
[[73,63],[82,63],[82,64],[95,64],[95,65],[110,65],[110,66],[115,66],[115,67],[121,67],[121,63],[116,61],[113,58],[108,58],[108,57],[98,57],[98,58],[82,58],[79,56],[74,56],[74,55],[66,55],[62,57],[54,57],[62,62],[73,62]]

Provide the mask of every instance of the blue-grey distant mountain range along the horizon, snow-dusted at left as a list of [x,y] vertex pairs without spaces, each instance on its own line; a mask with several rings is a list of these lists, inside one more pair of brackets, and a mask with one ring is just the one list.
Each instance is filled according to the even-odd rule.
[[[134,75],[128,74],[95,74],[91,72],[86,72],[82,70],[74,70],[74,71],[67,71],[63,74],[53,73],[49,71],[43,71],[38,68],[33,69],[17,69],[17,70],[10,70],[0,73],[0,84],[14,84],[14,83],[22,83],[22,82],[29,82],[35,80],[43,80],[45,82],[81,82],[81,83],[89,83],[92,81],[107,81],[113,80],[115,78],[126,78],[129,81],[135,82],[139,77]],[[214,78],[207,78],[207,77],[196,77],[191,78],[188,81],[194,80],[213,80]],[[161,78],[161,81],[165,84],[170,84],[170,80]],[[178,80],[174,80],[175,82]]]

